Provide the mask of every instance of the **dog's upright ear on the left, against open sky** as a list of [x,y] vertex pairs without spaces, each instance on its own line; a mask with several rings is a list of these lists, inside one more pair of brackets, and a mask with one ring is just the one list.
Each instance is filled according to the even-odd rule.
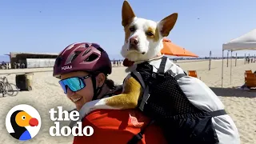
[[122,26],[129,24],[135,17],[134,10],[130,7],[129,2],[122,3]]

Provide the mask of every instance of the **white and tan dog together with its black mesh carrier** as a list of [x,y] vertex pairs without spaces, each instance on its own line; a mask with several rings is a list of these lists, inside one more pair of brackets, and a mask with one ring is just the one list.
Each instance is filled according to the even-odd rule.
[[239,143],[238,130],[218,96],[161,54],[162,40],[170,34],[177,18],[177,13],[160,22],[138,18],[130,4],[123,2],[125,41],[121,54],[130,74],[123,82],[122,94],[87,102],[79,111],[79,120],[97,109],[138,107],[158,123],[170,143]]

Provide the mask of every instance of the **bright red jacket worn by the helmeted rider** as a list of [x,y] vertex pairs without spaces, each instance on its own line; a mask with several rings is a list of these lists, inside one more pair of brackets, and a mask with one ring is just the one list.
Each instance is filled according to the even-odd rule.
[[[74,144],[126,144],[141,128],[150,122],[138,110],[94,110],[82,120],[82,126],[92,126],[90,137],[76,136]],[[165,144],[162,130],[154,124],[148,126],[139,144]]]

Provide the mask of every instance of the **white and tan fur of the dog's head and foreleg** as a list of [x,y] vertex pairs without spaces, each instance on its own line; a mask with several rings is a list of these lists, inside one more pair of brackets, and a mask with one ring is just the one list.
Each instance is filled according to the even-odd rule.
[[[138,18],[127,1],[122,5],[122,26],[125,30],[125,42],[121,54],[133,62],[145,62],[161,55],[162,39],[169,35],[173,29],[178,14],[170,14],[160,22]],[[130,40],[136,40],[131,45]],[[142,86],[133,77],[126,78],[122,94],[110,98],[102,98],[88,102],[89,113],[95,109],[131,109],[138,105],[138,98],[142,95]]]

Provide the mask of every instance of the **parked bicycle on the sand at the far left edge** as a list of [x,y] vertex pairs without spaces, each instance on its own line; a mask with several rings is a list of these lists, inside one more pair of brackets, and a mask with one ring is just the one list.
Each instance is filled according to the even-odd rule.
[[[7,74],[8,76],[10,74]],[[9,96],[16,96],[18,94],[18,87],[13,83],[8,82],[8,79],[4,77],[0,77],[0,94],[4,97],[6,94]]]

